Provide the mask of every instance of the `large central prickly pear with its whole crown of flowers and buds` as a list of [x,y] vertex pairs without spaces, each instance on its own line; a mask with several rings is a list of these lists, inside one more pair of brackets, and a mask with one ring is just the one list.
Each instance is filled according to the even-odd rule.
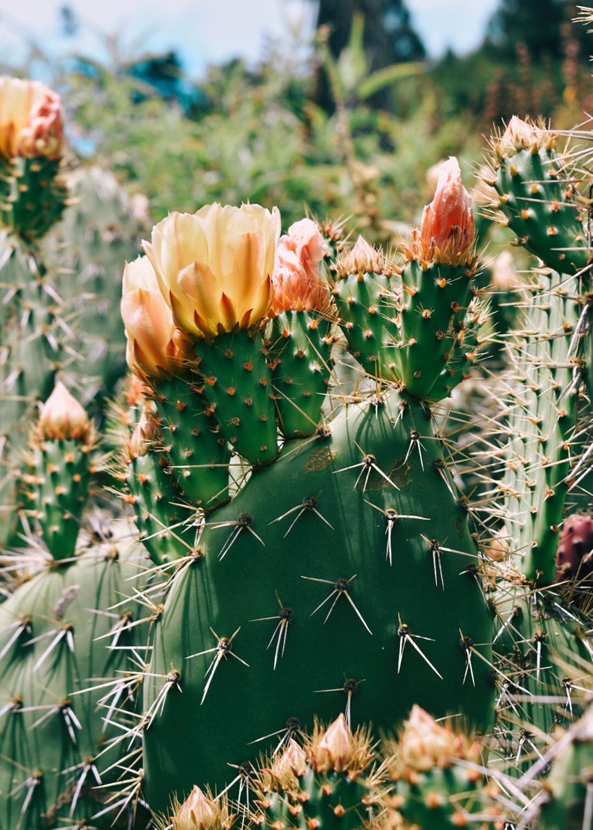
[[[172,213],[125,273],[128,362],[155,408],[133,442],[129,498],[154,561],[171,565],[145,683],[145,710],[158,713],[144,741],[158,811],[194,784],[220,789],[228,764],[311,734],[316,717],[341,709],[378,729],[414,703],[490,725],[493,617],[429,403],[463,379],[477,349],[473,218],[458,165],[445,165],[406,247],[409,276],[364,242],[341,258],[348,291],[376,295],[357,325],[368,314],[377,327],[349,341],[374,372],[372,392],[332,394],[331,418],[328,347],[340,328],[346,339],[353,331],[331,299],[341,286],[320,271],[326,247],[313,222],[289,229],[274,263],[277,233],[276,213],[258,206]],[[379,325],[385,313],[394,337]],[[398,374],[385,384],[377,355],[388,350]],[[237,457],[215,462],[218,493],[213,441]],[[195,507],[184,522],[177,503],[165,552],[171,497],[158,476],[169,460]]]

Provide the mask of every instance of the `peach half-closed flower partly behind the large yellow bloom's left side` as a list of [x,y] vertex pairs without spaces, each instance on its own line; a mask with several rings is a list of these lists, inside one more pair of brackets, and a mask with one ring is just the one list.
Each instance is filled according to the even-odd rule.
[[127,338],[126,359],[140,377],[180,374],[189,343],[175,328],[147,256],[126,263],[121,316]]

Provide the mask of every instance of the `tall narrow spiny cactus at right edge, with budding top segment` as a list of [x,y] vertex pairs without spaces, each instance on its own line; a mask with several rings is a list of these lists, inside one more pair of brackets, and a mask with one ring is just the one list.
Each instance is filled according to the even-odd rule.
[[[545,160],[547,178],[541,182]],[[517,290],[523,297],[518,304],[522,318],[512,332],[509,393],[501,417],[505,473],[502,481],[493,482],[502,496],[502,509],[495,507],[493,514],[496,520],[502,517],[500,538],[510,554],[497,582],[494,647],[504,675],[499,725],[511,730],[503,743],[512,769],[525,769],[543,751],[554,725],[580,713],[589,681],[575,683],[569,675],[572,669],[577,676],[587,673],[592,653],[590,622],[571,604],[574,589],[566,580],[555,585],[566,497],[581,467],[581,437],[590,428],[581,383],[576,273],[585,261],[577,260],[583,251],[575,237],[581,231],[574,205],[556,206],[561,199],[552,175],[557,164],[550,134],[517,119],[494,144],[493,184],[499,194],[505,188],[509,192],[510,177],[515,188],[512,198],[501,195],[500,209],[522,244],[546,265],[563,269],[562,274],[537,271],[535,279]],[[535,174],[539,178],[532,181],[529,177]],[[517,216],[519,183],[521,193],[532,194],[532,207],[519,211],[525,216]],[[546,230],[551,214],[553,232]],[[522,222],[532,228],[529,234]],[[569,246],[571,235],[575,244]]]

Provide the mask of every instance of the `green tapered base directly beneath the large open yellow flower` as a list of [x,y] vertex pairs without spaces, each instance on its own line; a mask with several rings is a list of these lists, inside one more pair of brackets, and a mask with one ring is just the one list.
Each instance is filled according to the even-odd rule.
[[277,455],[272,372],[261,332],[218,334],[213,343],[198,341],[195,353],[203,376],[203,395],[220,432],[250,464]]

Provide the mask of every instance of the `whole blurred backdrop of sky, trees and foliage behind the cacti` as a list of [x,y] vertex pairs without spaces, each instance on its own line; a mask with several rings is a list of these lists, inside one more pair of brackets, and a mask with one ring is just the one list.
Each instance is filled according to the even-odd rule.
[[[493,125],[593,109],[593,36],[566,0],[0,2],[2,71],[68,110],[71,164],[105,165],[158,220],[251,200],[350,217],[389,244],[434,165],[471,184]],[[591,42],[590,42],[591,41]]]

